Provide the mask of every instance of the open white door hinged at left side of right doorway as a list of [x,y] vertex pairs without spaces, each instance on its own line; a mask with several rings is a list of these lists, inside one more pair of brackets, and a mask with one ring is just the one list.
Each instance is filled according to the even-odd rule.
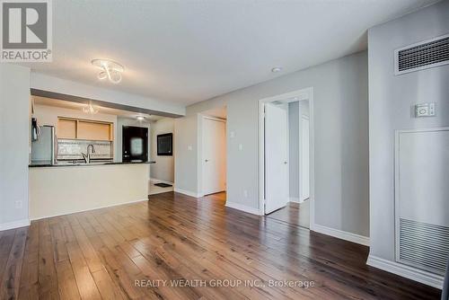
[[265,214],[288,202],[287,110],[265,106]]

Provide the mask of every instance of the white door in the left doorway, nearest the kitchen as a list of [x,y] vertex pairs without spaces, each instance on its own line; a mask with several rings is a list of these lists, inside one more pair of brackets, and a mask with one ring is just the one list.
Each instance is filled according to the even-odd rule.
[[205,195],[226,190],[226,123],[203,118],[202,190]]

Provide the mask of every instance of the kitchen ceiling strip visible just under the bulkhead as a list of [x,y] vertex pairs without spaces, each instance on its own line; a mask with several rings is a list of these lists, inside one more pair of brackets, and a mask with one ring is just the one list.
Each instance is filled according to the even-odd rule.
[[[64,101],[64,100],[40,97],[40,96],[32,96],[32,99],[34,101],[34,104],[37,104],[37,105],[46,105],[46,106],[59,107],[59,108],[70,109],[70,110],[82,111],[84,106],[86,105],[85,103],[78,103],[78,102],[74,102],[74,101]],[[129,110],[111,109],[108,107],[102,107],[102,106],[98,106],[98,105],[95,105],[95,107],[98,108],[99,113],[119,116],[119,117],[128,118],[128,119],[136,119],[137,116],[144,116],[145,120],[143,122],[152,122],[152,121],[157,121],[159,119],[166,118],[166,117],[162,117],[162,116],[148,115],[145,113],[139,113],[139,112],[129,111]]]

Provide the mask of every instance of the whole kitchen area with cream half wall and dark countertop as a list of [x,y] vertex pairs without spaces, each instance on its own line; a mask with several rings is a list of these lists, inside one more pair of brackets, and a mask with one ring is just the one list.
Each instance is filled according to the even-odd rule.
[[32,95],[31,220],[147,200],[149,128],[158,118]]

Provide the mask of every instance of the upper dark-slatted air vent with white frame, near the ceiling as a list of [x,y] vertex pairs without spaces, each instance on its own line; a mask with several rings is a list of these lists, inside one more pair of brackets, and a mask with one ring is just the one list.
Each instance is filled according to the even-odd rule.
[[395,75],[449,64],[449,34],[394,51]]

